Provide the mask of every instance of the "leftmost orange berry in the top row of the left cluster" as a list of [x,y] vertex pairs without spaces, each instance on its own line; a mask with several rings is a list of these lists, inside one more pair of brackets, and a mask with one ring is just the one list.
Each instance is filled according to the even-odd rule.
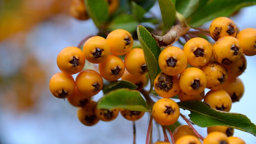
[[78,47],[68,46],[59,52],[57,65],[62,72],[72,75],[82,71],[85,65],[85,56]]

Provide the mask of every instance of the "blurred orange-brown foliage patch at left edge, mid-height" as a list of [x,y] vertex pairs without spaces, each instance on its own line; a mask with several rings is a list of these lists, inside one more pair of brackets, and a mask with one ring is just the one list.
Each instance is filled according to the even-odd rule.
[[27,57],[18,72],[5,82],[8,81],[10,85],[3,91],[1,105],[16,112],[26,112],[34,108],[47,85],[46,72],[32,55]]

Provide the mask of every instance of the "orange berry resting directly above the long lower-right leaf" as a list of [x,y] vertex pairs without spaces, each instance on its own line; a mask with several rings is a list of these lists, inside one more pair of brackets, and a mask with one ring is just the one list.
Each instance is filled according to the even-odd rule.
[[229,112],[232,106],[232,100],[225,90],[210,90],[206,93],[204,102],[208,103],[211,108]]

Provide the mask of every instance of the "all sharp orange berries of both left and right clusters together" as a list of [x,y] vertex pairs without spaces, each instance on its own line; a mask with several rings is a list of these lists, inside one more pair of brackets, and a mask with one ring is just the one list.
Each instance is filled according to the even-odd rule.
[[[152,117],[160,125],[172,125],[180,116],[178,104],[170,99],[174,96],[180,101],[203,100],[211,108],[225,112],[230,111],[233,102],[241,99],[244,85],[239,76],[247,68],[245,55],[256,54],[256,29],[239,32],[231,19],[220,17],[212,21],[209,33],[215,40],[214,44],[193,37],[186,41],[183,49],[169,46],[160,52],[158,64],[161,72],[153,84],[160,97],[152,104],[151,110]],[[97,68],[85,69],[85,63],[93,63]],[[92,126],[99,120],[112,121],[119,112],[130,121],[143,117],[145,112],[141,111],[97,109],[97,102],[91,99],[103,89],[104,80],[126,80],[137,85],[136,90],[144,90],[148,81],[145,57],[141,48],[133,48],[133,36],[128,31],[116,29],[106,38],[92,36],[85,41],[82,50],[66,47],[59,52],[57,65],[61,72],[51,77],[50,91],[55,97],[67,98],[69,103],[78,107],[78,118],[84,125]],[[78,74],[75,79],[73,74]],[[205,94],[206,89],[209,91]],[[201,144],[190,126],[182,127],[174,131],[176,144]],[[233,131],[226,126],[208,127],[209,135],[203,143],[243,141],[233,137]]]

